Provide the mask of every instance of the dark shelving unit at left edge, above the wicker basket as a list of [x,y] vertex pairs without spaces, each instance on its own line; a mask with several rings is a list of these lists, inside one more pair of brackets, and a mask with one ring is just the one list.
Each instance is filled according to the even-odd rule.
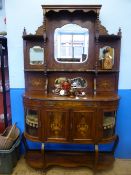
[[0,132],[11,124],[7,39],[0,37]]

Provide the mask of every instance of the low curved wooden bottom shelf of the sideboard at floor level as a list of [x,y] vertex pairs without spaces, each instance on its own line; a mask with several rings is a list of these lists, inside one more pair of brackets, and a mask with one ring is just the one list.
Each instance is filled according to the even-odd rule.
[[35,169],[63,167],[88,167],[103,170],[113,166],[114,157],[110,152],[74,152],[74,151],[38,151],[28,150],[25,154],[26,162]]

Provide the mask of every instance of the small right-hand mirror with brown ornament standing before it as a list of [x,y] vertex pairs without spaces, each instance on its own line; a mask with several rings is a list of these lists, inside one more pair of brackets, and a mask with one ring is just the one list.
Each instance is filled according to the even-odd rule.
[[111,48],[110,46],[100,48],[99,59],[101,61],[102,69],[112,69],[114,65],[114,48]]

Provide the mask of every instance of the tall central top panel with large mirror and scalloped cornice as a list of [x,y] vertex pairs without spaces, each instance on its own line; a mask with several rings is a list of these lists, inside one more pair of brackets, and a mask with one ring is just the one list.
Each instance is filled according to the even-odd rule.
[[95,23],[101,6],[42,6],[48,69],[92,70]]

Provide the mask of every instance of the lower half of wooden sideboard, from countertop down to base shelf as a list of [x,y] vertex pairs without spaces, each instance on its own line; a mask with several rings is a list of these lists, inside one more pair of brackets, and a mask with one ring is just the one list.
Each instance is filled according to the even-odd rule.
[[[104,100],[103,100],[104,101]],[[115,121],[118,98],[96,101],[38,100],[24,97],[26,160],[34,168],[52,165],[88,166],[103,169],[112,165],[118,144]],[[89,103],[88,103],[89,102]],[[39,141],[41,150],[31,150],[26,139]],[[44,143],[93,144],[94,151],[47,151]],[[114,142],[111,152],[100,152],[98,145]],[[35,163],[37,159],[37,164]]]

